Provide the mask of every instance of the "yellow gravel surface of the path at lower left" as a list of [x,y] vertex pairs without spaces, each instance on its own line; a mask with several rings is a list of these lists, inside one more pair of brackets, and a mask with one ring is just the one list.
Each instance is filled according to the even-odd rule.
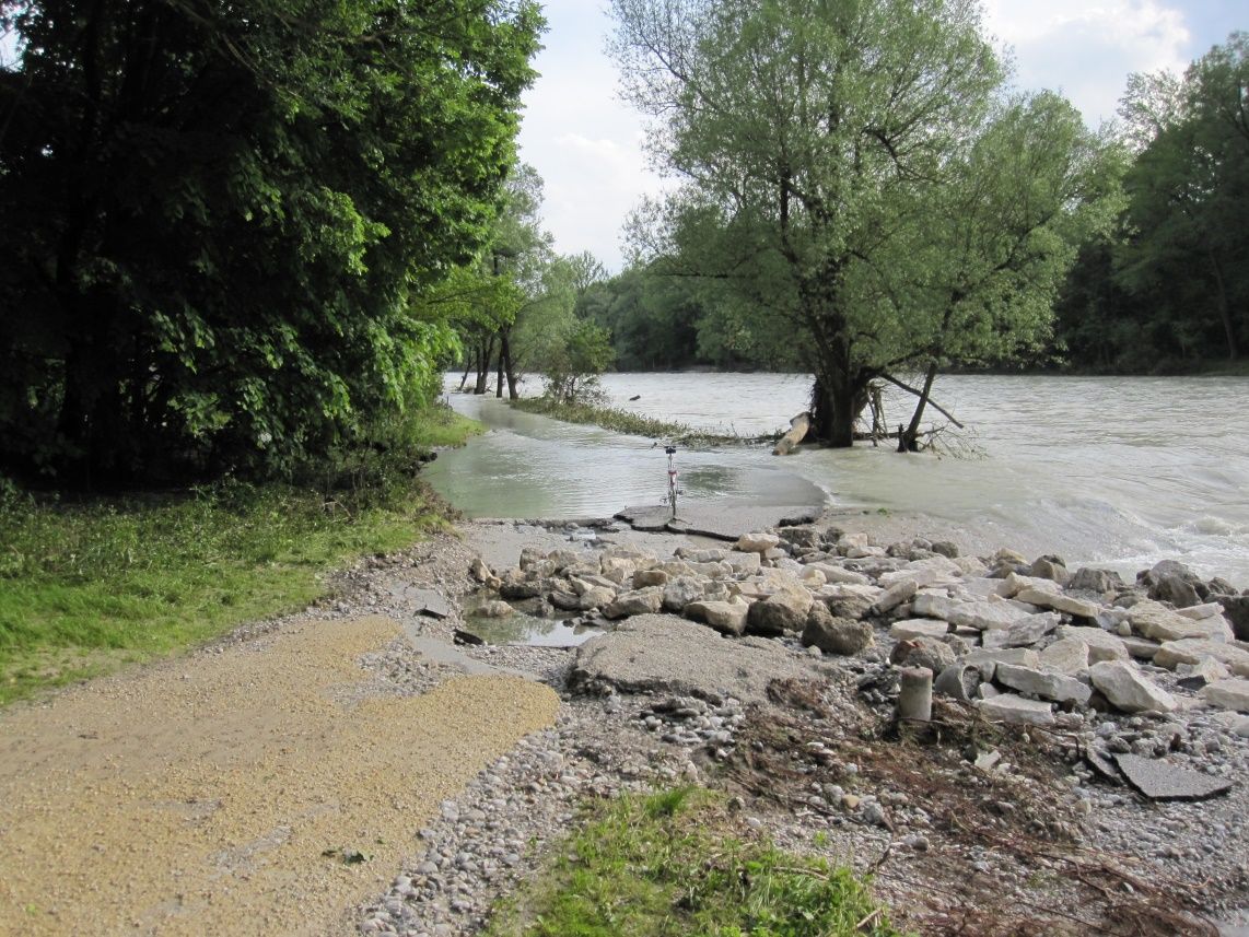
[[400,633],[305,621],[0,713],[0,933],[348,931],[438,802],[558,707],[511,677],[370,692],[357,658]]

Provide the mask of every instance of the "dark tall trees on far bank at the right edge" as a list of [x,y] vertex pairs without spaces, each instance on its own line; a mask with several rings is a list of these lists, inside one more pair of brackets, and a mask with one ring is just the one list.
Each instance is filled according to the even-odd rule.
[[1089,244],[1059,305],[1077,366],[1183,370],[1249,344],[1249,34],[1175,79],[1135,75],[1138,149],[1114,237]]

